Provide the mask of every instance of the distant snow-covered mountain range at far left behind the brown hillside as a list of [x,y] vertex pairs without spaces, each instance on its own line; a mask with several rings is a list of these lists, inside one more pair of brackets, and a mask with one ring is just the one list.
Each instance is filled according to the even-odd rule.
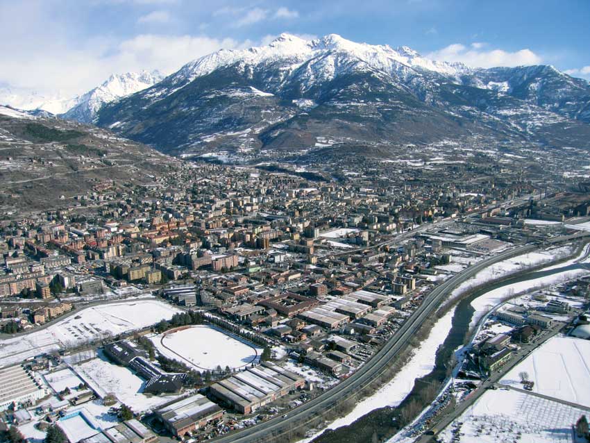
[[37,92],[0,87],[0,105],[21,110],[44,110],[65,119],[92,123],[104,103],[110,103],[158,83],[164,76],[158,71],[112,74],[104,83],[76,97],[63,94],[47,96]]

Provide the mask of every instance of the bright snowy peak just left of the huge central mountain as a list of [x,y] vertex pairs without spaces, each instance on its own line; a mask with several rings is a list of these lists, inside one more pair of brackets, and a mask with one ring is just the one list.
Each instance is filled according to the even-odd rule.
[[96,112],[104,103],[144,90],[158,83],[164,76],[158,71],[113,74],[102,85],[78,97],[77,103],[62,112],[60,117],[83,123],[92,123]]

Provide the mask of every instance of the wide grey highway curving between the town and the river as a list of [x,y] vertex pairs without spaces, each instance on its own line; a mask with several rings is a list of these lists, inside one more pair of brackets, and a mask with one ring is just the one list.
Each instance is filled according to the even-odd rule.
[[[590,233],[587,234],[590,235]],[[566,239],[564,238],[564,240]],[[557,242],[557,239],[555,239],[554,242]],[[335,387],[332,387],[332,389],[326,391],[315,399],[291,410],[283,417],[273,418],[251,428],[217,437],[212,441],[218,443],[248,443],[264,442],[265,440],[272,440],[273,438],[280,440],[279,437],[281,435],[291,433],[311,419],[316,419],[321,416],[323,412],[330,410],[332,406],[342,399],[348,398],[363,387],[369,385],[373,380],[378,378],[382,372],[387,370],[391,365],[391,360],[401,353],[405,345],[410,341],[412,335],[414,335],[418,328],[420,328],[425,319],[435,312],[440,306],[440,302],[443,301],[450,291],[457,287],[457,285],[460,285],[467,279],[475,276],[475,274],[489,265],[506,260],[507,258],[534,251],[538,248],[539,246],[536,244],[520,246],[498,254],[498,256],[482,260],[468,269],[464,269],[459,274],[453,276],[453,278],[450,278],[444,283],[441,283],[441,285],[435,287],[430,294],[425,296],[421,306],[408,317],[407,321],[405,321],[401,328],[398,329],[395,335],[391,337],[391,339],[382,347],[382,349],[380,349],[380,351],[378,351],[378,353],[376,353],[375,356],[373,356],[373,358],[357,369],[357,371],[355,371],[355,373],[349,378],[346,378],[346,380],[335,385]]]

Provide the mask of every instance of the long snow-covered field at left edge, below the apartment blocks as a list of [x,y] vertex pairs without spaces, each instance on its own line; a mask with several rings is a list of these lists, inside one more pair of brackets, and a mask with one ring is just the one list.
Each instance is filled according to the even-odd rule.
[[0,340],[0,364],[13,365],[41,353],[83,344],[170,319],[178,310],[157,300],[86,308],[40,331]]

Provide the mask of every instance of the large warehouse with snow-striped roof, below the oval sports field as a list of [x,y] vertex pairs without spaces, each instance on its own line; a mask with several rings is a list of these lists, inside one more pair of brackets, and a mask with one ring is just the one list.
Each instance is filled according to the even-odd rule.
[[303,378],[269,362],[214,383],[211,396],[242,414],[250,414],[292,390],[305,386]]

